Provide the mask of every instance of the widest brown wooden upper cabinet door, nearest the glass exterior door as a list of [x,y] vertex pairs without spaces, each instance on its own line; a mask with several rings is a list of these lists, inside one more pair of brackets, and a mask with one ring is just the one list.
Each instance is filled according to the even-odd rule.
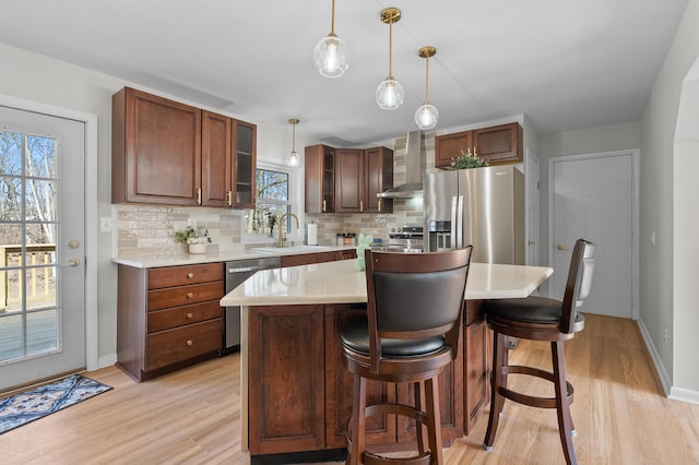
[[197,205],[201,110],[129,87],[112,106],[112,202]]

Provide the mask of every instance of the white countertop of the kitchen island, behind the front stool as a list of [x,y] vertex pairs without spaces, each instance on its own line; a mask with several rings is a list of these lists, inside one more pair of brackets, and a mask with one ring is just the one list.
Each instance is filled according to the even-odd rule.
[[[545,266],[472,263],[466,299],[526,297],[554,270]],[[221,299],[222,307],[366,302],[365,273],[356,260],[257,272]]]

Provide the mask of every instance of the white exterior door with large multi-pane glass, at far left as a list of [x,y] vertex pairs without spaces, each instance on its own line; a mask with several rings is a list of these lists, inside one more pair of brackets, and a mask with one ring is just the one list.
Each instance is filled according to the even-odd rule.
[[85,367],[85,123],[0,106],[0,389]]

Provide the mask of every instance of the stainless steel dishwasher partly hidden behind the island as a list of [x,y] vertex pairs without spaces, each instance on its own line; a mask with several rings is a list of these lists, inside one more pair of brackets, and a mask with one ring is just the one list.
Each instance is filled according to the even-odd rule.
[[[273,270],[280,266],[281,259],[279,257],[226,262],[226,294],[230,293],[260,270]],[[223,320],[223,349],[220,350],[220,356],[240,349],[240,307],[226,307],[224,309]]]

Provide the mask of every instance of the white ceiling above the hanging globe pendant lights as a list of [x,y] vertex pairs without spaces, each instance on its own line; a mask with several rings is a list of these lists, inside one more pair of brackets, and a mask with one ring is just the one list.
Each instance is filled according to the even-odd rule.
[[[315,69],[331,0],[3,0],[0,41],[252,122],[288,124],[309,142],[362,145],[416,129],[425,99],[436,130],[526,115],[538,133],[638,120],[687,0],[336,0],[350,48],[339,79]],[[378,108],[398,7],[396,110]],[[8,72],[8,63],[3,63]],[[10,71],[11,72],[11,71]]]

